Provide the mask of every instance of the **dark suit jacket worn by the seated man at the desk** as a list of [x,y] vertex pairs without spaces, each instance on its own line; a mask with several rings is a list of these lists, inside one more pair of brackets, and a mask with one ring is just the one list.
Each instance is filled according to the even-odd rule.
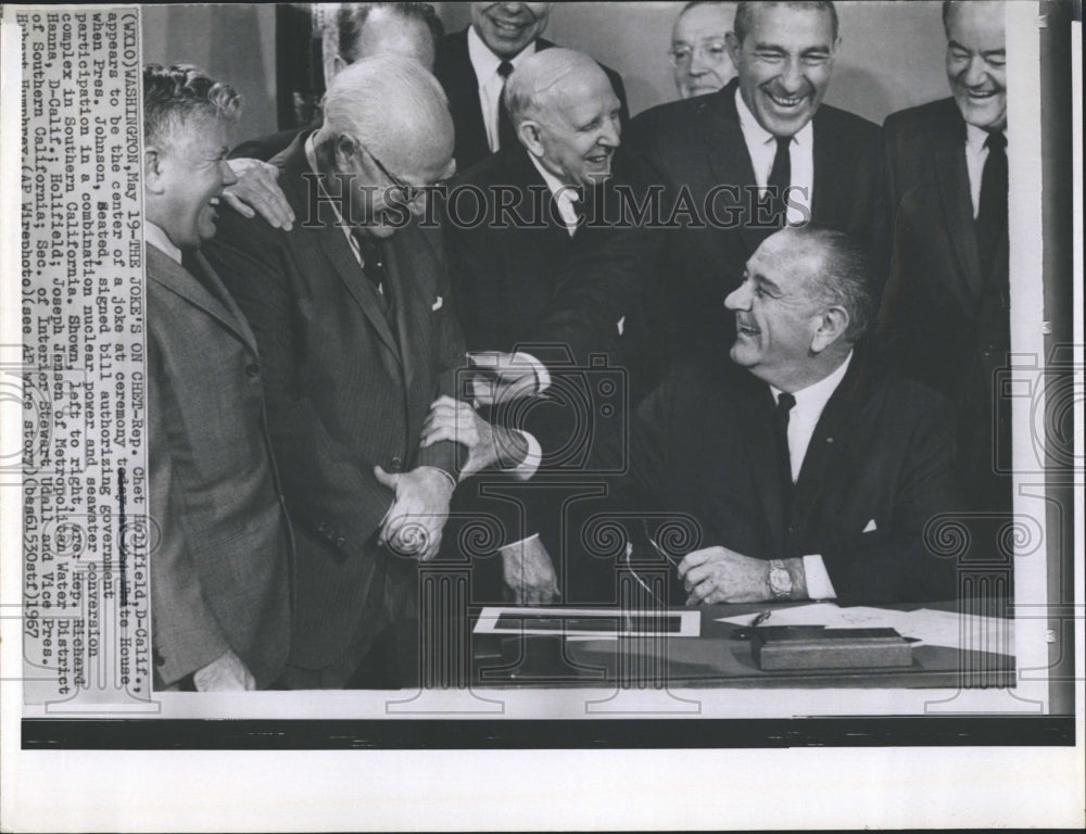
[[773,400],[745,370],[695,364],[637,412],[637,505],[693,515],[700,541],[747,556],[819,554],[843,604],[955,598],[956,564],[924,526],[956,506],[952,427],[936,393],[868,374],[859,356],[811,437],[785,517]]

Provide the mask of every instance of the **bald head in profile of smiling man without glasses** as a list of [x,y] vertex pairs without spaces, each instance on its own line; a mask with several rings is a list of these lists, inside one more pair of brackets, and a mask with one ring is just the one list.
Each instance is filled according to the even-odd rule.
[[610,176],[620,103],[592,58],[557,48],[530,55],[509,76],[505,105],[520,143],[564,185]]

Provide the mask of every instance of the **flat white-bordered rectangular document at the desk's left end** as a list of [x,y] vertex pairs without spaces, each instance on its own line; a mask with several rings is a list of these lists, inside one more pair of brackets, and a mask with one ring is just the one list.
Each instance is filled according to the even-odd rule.
[[483,608],[476,634],[536,634],[567,637],[696,637],[699,611],[622,611],[608,608]]

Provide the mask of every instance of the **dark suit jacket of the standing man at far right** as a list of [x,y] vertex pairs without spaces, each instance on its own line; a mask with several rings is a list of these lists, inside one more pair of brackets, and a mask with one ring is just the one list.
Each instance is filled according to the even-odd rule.
[[[1007,286],[1007,238],[993,273],[983,275],[965,123],[954,99],[894,113],[883,132],[894,257],[876,336],[880,356],[954,404],[961,475],[976,485],[993,477],[993,379],[1010,344],[1009,313],[993,311],[994,296],[986,292]],[[998,421],[1007,448],[1008,418]],[[994,489],[1000,502],[1009,502],[1006,485]]]

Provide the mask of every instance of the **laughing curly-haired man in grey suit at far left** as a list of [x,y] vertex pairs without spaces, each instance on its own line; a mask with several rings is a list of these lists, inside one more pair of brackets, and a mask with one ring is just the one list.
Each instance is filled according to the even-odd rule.
[[151,614],[166,690],[266,687],[290,635],[290,531],[256,340],[199,249],[233,179],[239,108],[194,67],[143,72]]

